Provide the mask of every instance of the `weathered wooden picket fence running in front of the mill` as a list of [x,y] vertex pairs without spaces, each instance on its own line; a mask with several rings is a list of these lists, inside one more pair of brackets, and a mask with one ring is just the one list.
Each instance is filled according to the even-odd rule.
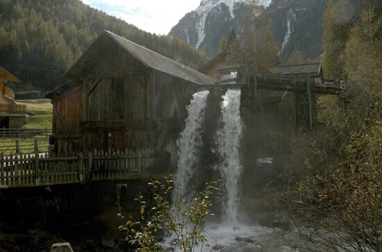
[[26,154],[0,156],[0,188],[80,183],[84,180],[124,178],[153,167],[150,150],[94,150],[83,155]]

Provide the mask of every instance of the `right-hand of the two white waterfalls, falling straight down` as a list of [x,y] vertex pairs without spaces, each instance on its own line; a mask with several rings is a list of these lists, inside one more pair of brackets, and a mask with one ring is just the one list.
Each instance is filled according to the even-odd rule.
[[235,223],[238,220],[239,179],[242,174],[239,156],[242,135],[240,94],[240,90],[228,90],[222,96],[222,125],[216,136],[217,153],[222,158],[217,169],[222,174],[225,190],[223,219],[227,223]]

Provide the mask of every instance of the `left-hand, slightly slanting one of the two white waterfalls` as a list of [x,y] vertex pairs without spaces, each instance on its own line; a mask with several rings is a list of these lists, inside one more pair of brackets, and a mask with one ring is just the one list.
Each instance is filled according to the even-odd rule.
[[175,185],[181,188],[183,198],[194,196],[195,170],[199,160],[199,151],[202,145],[204,131],[204,115],[209,92],[202,91],[194,94],[190,105],[187,107],[188,118],[185,120],[185,129],[176,141],[178,146],[178,170],[175,175]]

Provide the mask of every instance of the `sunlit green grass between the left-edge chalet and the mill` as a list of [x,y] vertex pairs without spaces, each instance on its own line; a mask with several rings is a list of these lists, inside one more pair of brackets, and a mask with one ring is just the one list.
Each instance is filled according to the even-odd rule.
[[[52,120],[52,105],[49,99],[38,99],[38,100],[22,100],[16,101],[18,104],[26,104],[27,112],[32,115],[26,120],[26,124],[23,128],[41,128],[51,130],[51,120]],[[42,135],[37,135],[31,138],[1,138],[0,139],[0,153],[4,155],[10,155],[16,152],[16,141],[19,141],[19,148],[22,153],[33,153],[34,152],[34,141],[35,138],[44,138],[45,133]],[[38,140],[38,151],[45,152],[48,151],[49,140]]]

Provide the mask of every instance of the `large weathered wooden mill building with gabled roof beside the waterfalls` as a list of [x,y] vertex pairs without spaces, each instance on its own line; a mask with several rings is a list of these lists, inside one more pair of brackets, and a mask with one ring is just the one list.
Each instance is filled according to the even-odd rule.
[[110,31],[63,76],[69,82],[47,95],[56,151],[154,148],[176,155],[192,94],[214,83]]

